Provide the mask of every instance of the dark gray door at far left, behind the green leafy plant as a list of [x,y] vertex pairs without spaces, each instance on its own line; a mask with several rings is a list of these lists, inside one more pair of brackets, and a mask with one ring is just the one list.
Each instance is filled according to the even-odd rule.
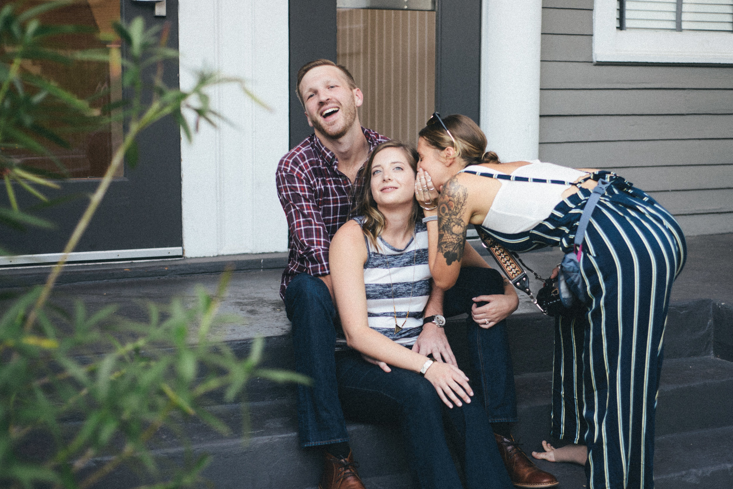
[[[116,15],[125,22],[142,16],[146,26],[162,26],[163,23],[168,23],[170,28],[168,45],[177,49],[178,1],[167,0],[166,3],[166,17],[155,17],[155,4],[148,1],[78,2],[74,7],[77,10],[56,12],[53,15],[57,17],[52,20],[59,22],[66,20],[64,17],[67,17],[73,19],[69,23],[88,22],[102,30],[108,29],[108,21]],[[110,10],[110,4],[119,6],[119,12]],[[76,72],[77,78],[78,75],[80,73]],[[104,78],[104,74],[101,76]],[[145,77],[150,81],[152,70]],[[167,86],[178,86],[177,63],[166,66],[164,81]],[[114,85],[114,80],[107,78],[105,83]],[[62,154],[60,158],[70,168],[73,178],[59,182],[62,189],[46,192],[46,195],[50,198],[59,198],[64,195],[93,193],[99,182],[98,177],[108,164],[114,144],[121,137],[122,127],[110,127],[108,131],[85,135],[83,139],[75,141],[78,147],[75,147],[74,151]],[[178,126],[170,118],[163,119],[145,130],[139,137],[138,144],[138,165],[136,168],[125,165],[124,171],[114,179],[75,251],[139,250],[182,246]],[[20,189],[18,195],[23,195],[23,201],[19,202],[21,206],[37,204],[37,201],[28,198]],[[56,224],[54,230],[30,228],[26,233],[12,231],[11,234],[6,234],[7,239],[4,239],[3,244],[18,254],[59,253],[88,202],[88,198],[81,197],[51,206],[40,215]]]

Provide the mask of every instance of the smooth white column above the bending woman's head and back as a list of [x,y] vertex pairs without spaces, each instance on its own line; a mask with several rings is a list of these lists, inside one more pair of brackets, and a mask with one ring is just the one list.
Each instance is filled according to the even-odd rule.
[[501,161],[539,152],[542,0],[483,0],[481,128]]

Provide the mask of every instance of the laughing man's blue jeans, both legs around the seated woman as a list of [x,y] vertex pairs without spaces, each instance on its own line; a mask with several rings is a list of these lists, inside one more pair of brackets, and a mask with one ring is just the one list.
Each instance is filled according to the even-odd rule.
[[[517,421],[514,371],[505,321],[489,329],[470,316],[475,296],[504,294],[504,280],[495,269],[461,269],[443,299],[443,316],[469,313],[468,348],[474,373],[467,373],[474,399],[482,400],[490,422]],[[479,303],[480,305],[480,303]],[[295,370],[313,379],[298,386],[298,432],[301,446],[348,441],[336,381],[336,309],[323,280],[301,273],[285,291],[285,311],[292,322]]]

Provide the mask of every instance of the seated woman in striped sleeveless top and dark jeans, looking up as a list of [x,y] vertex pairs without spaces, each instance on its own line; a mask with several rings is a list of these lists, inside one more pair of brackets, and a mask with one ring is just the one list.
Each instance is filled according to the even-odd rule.
[[468,377],[454,362],[434,362],[412,349],[422,311],[440,313],[442,302],[438,289],[432,296],[430,291],[427,231],[414,198],[414,150],[382,143],[365,171],[371,179],[364,185],[364,214],[339,229],[329,251],[336,307],[353,348],[336,354],[345,414],[399,422],[419,487],[460,489],[443,431],[448,411],[463,439],[468,487],[509,489],[489,419],[480,400],[472,402]]

